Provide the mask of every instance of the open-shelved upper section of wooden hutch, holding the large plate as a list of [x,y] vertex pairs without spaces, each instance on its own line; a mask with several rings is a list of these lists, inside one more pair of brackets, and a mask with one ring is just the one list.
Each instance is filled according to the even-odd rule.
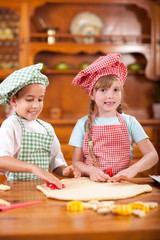
[[[157,51],[153,48],[158,28],[155,15],[159,18],[156,3],[148,0],[29,3],[31,14],[28,64],[43,62],[46,68],[44,73],[50,80],[43,117],[49,117],[48,109],[51,107],[59,107],[63,118],[68,115],[78,118],[79,115],[87,114],[88,96],[79,87],[73,88],[72,80],[83,63],[90,64],[109,52],[119,52],[127,66],[132,63],[141,65],[139,71],[129,70],[125,84],[130,108],[127,111],[138,118],[152,117],[151,105],[154,97],[151,89],[160,84],[156,81],[155,68],[159,60]],[[67,17],[64,17],[66,12]],[[85,43],[86,36],[75,36],[70,29],[74,17],[82,12],[91,12],[103,22],[102,33],[91,44]],[[52,28],[56,29],[56,34],[52,36],[55,42],[48,44],[47,29]],[[81,41],[77,42],[77,38]],[[56,66],[62,62],[67,63],[69,69],[57,70]]]

